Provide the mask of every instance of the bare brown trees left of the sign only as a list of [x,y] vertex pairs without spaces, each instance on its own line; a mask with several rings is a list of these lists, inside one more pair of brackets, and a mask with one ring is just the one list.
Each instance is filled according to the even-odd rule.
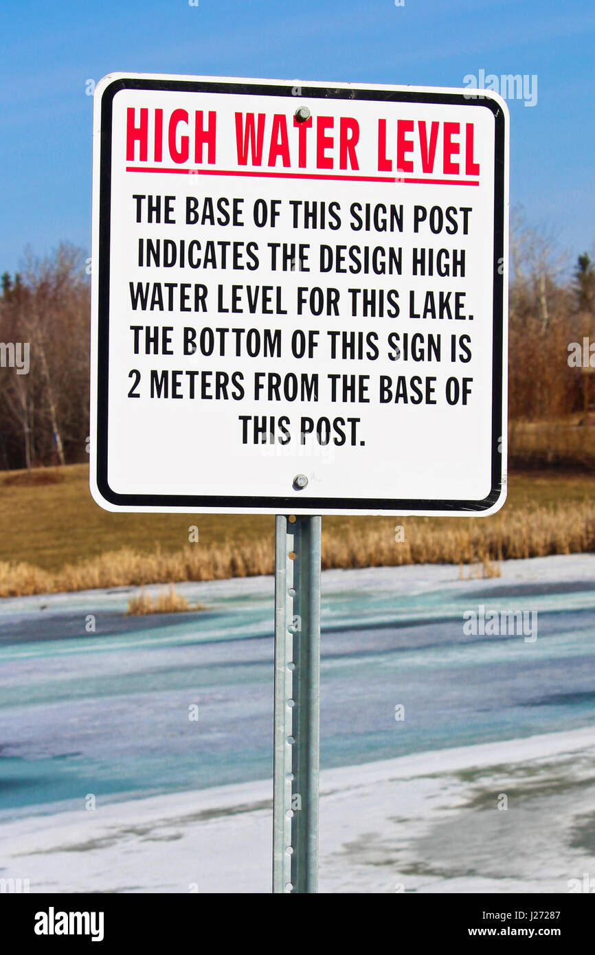
[[[84,252],[61,244],[2,276],[0,467],[86,459],[89,435],[90,281]],[[9,345],[28,345],[29,369],[11,367]],[[16,355],[19,351],[16,351]],[[22,351],[21,351],[22,354]]]

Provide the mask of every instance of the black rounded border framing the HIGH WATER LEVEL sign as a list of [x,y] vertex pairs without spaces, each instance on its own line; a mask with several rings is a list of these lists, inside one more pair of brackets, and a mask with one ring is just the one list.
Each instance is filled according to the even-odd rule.
[[311,514],[326,511],[393,511],[393,512],[467,512],[480,514],[493,507],[500,499],[504,460],[500,451],[502,440],[502,343],[504,280],[501,269],[504,256],[504,158],[505,117],[498,100],[490,96],[470,96],[463,93],[426,93],[419,90],[361,89],[357,86],[321,87],[301,85],[301,96],[308,99],[359,99],[389,102],[450,103],[458,106],[483,106],[495,117],[494,157],[494,325],[492,364],[492,486],[482,500],[392,499],[392,498],[306,498],[301,493],[286,498],[225,497],[220,495],[148,495],[117,494],[108,483],[108,369],[109,369],[109,286],[110,286],[110,225],[112,190],[112,114],[114,97],[121,90],[167,90],[193,93],[229,93],[232,96],[293,96],[292,85],[274,83],[238,83],[223,80],[148,79],[140,76],[117,77],[101,94],[100,103],[100,170],[99,170],[99,261],[97,299],[97,393],[96,393],[96,486],[102,498],[116,507],[155,509],[185,508],[196,512],[200,507],[221,508],[233,512],[249,509],[275,509],[291,513],[297,509]]

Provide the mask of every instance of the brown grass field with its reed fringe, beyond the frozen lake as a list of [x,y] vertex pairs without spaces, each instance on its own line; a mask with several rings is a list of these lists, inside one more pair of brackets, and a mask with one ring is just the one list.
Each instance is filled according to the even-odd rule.
[[[0,596],[270,573],[273,521],[110,514],[91,498],[86,465],[3,474]],[[199,541],[190,543],[193,524]],[[403,532],[395,535],[395,525]],[[504,508],[487,519],[323,521],[326,567],[472,563],[592,549],[595,485],[585,471],[513,472]]]

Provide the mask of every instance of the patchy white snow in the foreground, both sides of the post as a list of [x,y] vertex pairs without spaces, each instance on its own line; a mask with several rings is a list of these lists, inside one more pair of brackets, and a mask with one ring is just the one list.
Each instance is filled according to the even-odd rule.
[[[594,756],[587,729],[329,770],[320,891],[567,892],[593,864]],[[2,876],[32,892],[269,892],[270,803],[262,780],[19,819]]]

